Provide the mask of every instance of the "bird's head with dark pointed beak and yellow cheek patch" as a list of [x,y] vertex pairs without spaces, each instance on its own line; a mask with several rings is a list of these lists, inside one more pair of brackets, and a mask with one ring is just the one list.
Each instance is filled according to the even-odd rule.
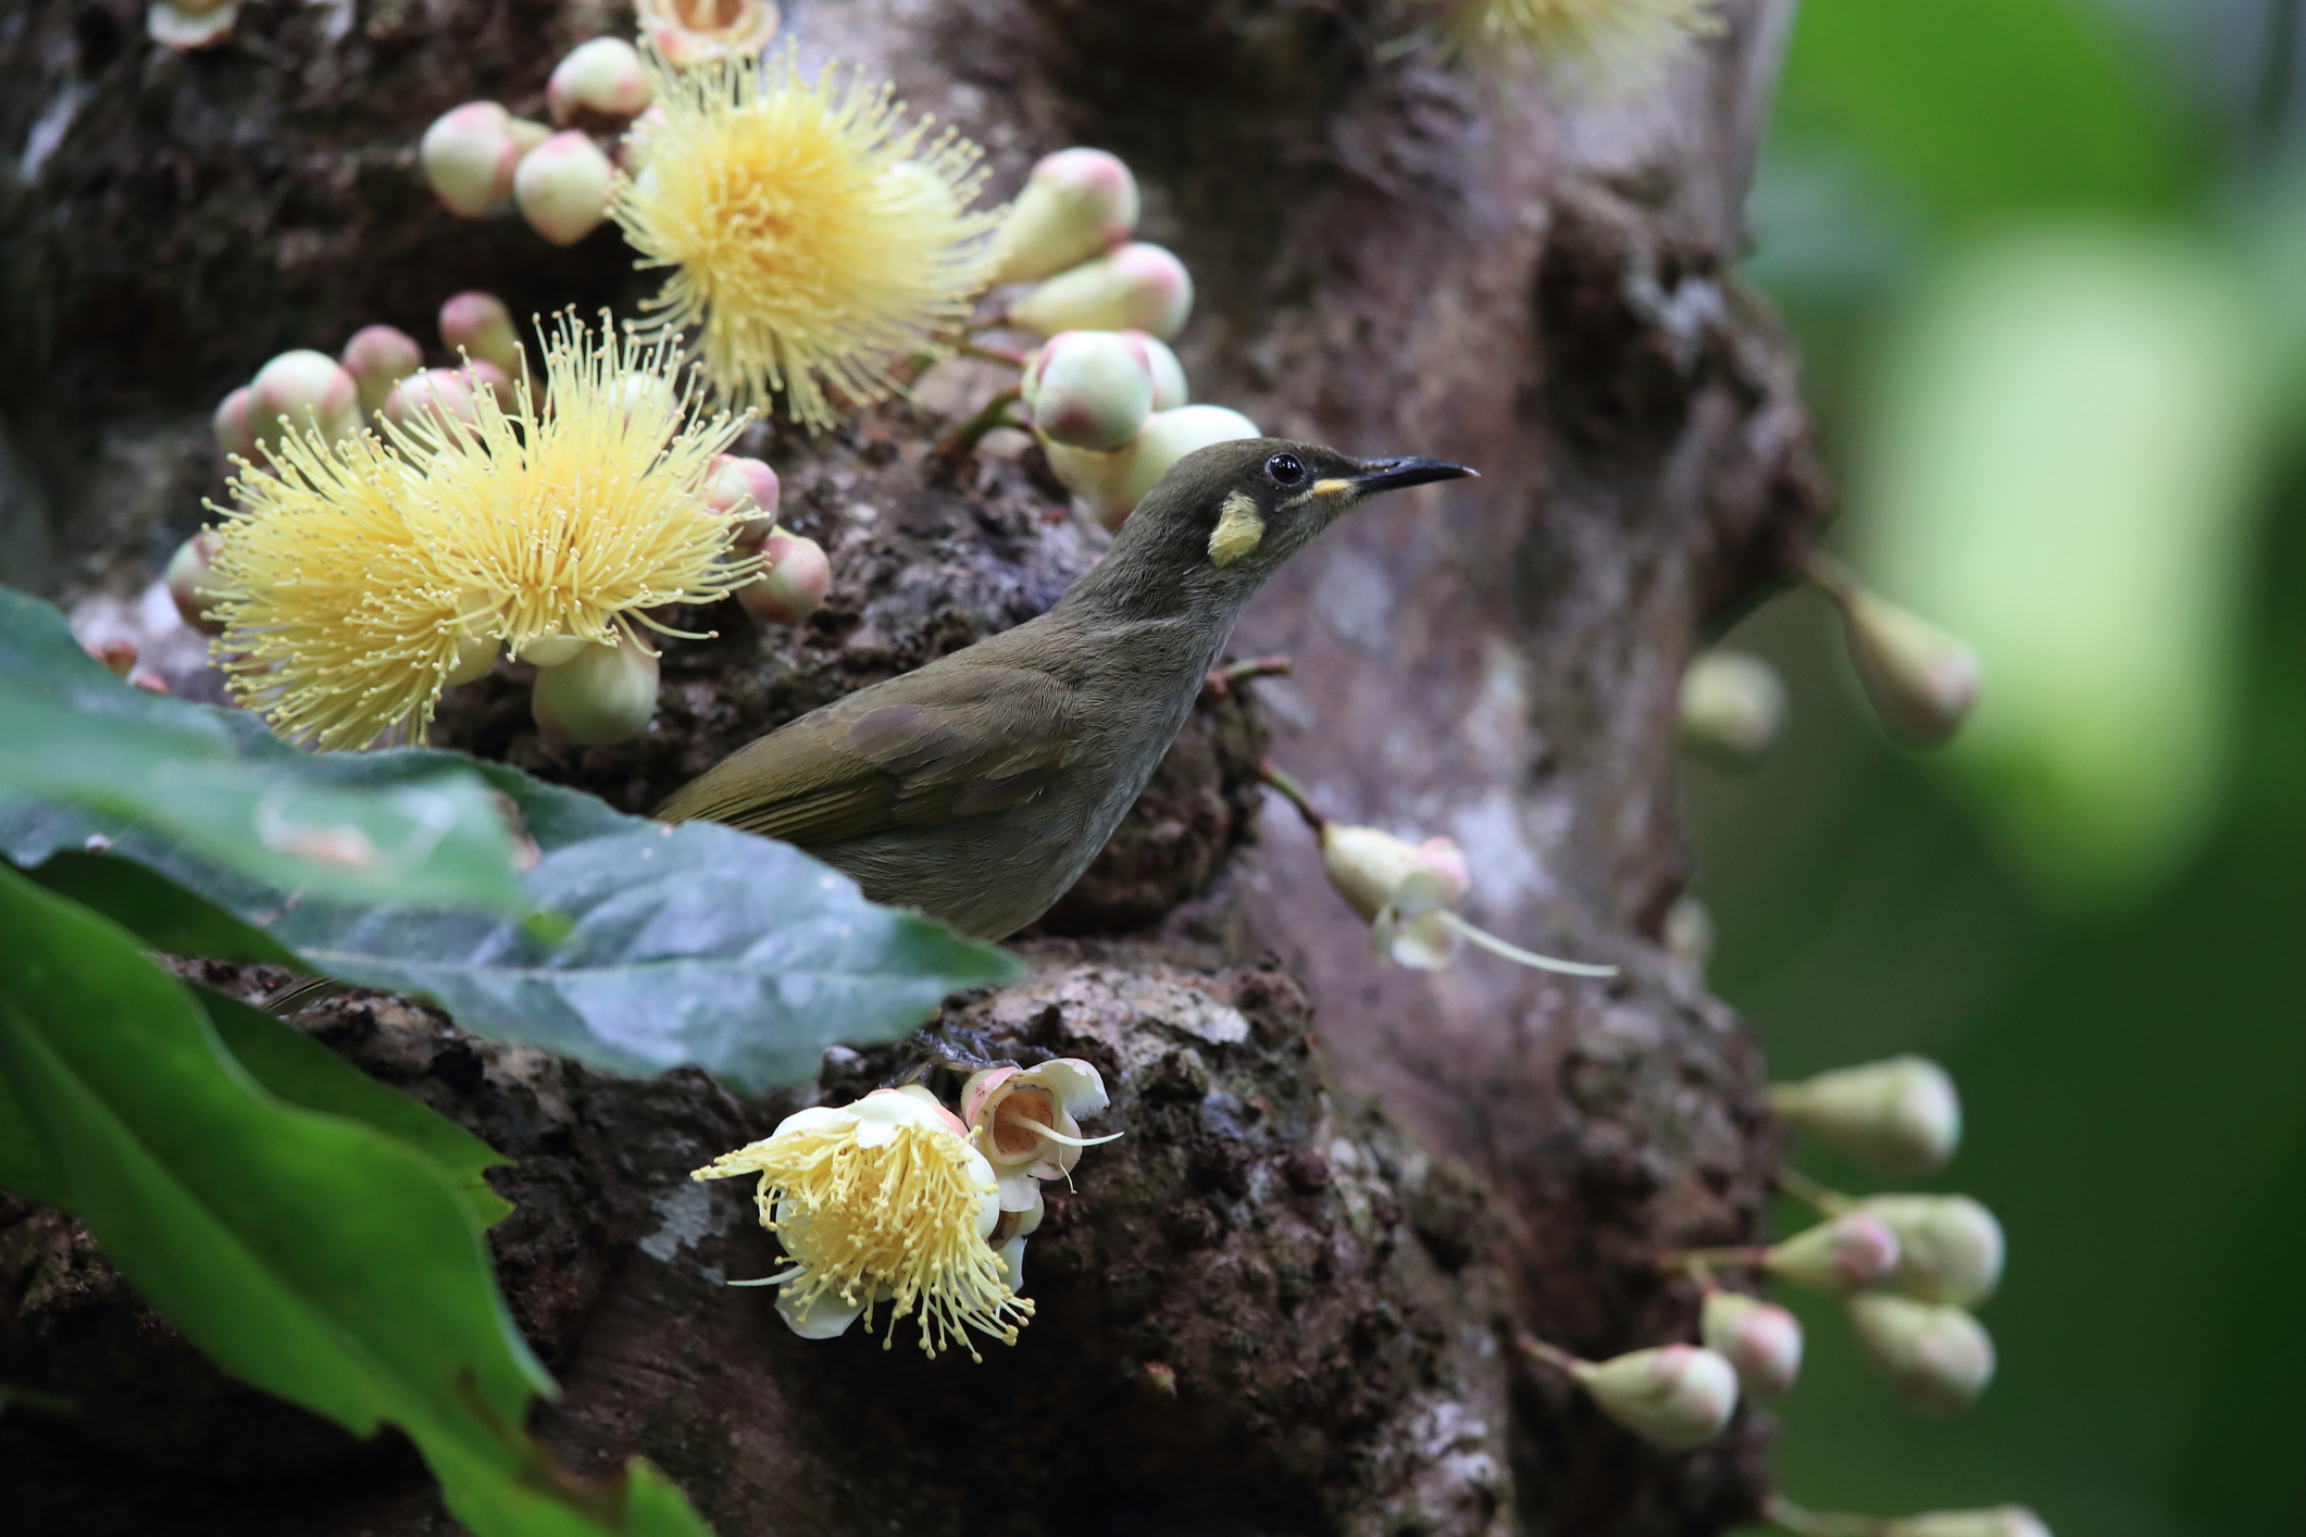
[[1139,583],[1248,597],[1347,509],[1464,475],[1441,459],[1354,459],[1287,438],[1215,442],[1169,465],[1105,562]]

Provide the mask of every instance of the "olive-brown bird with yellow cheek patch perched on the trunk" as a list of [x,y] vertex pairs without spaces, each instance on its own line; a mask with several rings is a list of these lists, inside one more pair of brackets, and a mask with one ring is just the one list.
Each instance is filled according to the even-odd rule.
[[1280,438],[1188,454],[1056,608],[740,747],[657,816],[798,843],[874,901],[1005,938],[1105,848],[1266,576],[1356,502],[1460,475]]

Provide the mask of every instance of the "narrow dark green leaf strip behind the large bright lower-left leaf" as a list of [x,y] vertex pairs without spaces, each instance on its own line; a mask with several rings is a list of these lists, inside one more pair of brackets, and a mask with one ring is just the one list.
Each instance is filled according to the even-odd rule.
[[493,1228],[512,1212],[512,1203],[482,1178],[484,1168],[512,1161],[503,1152],[431,1106],[378,1083],[295,1025],[208,986],[194,986],[194,995],[233,1060],[267,1090],[288,1104],[357,1120],[415,1148],[447,1175],[480,1226]]

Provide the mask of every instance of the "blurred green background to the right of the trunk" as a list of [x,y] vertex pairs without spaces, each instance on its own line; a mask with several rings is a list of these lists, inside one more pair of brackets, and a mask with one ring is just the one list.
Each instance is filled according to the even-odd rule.
[[1746,274],[1833,548],[1985,691],[1914,754],[1815,595],[1727,636],[1794,707],[1757,770],[1686,774],[1709,975],[1780,1078],[1942,1060],[1935,1184],[2011,1240],[1960,1419],[1801,1304],[1803,1505],[2306,1532],[2301,76],[2297,0],[1803,0]]

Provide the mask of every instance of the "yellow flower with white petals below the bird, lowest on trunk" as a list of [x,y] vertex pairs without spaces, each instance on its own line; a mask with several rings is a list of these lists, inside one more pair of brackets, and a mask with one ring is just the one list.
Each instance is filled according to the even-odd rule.
[[777,1131],[724,1152],[692,1180],[759,1173],[754,1205],[791,1270],[736,1286],[775,1286],[777,1313],[802,1339],[832,1339],[890,1304],[920,1316],[920,1348],[959,1343],[969,1330],[1017,1343],[1033,1304],[1010,1290],[987,1237],[1001,1221],[992,1164],[969,1129],[925,1088],[874,1090],[849,1106],[786,1115]]

